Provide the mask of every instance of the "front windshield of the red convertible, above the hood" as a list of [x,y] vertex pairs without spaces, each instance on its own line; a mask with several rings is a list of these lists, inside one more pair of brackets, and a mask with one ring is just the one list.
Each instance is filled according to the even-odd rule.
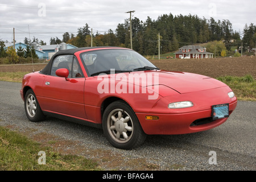
[[129,49],[104,49],[84,52],[82,61],[90,76],[100,73],[131,72],[158,69],[139,53]]

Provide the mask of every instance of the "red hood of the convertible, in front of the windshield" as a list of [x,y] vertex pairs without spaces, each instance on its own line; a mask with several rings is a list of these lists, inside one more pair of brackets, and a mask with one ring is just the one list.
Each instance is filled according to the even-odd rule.
[[[127,75],[126,75],[127,74]],[[133,74],[131,76],[131,74]],[[140,78],[140,86],[156,86],[159,85],[159,88],[166,86],[180,94],[197,92],[201,90],[208,90],[214,88],[220,88],[226,86],[221,81],[218,81],[214,78],[208,76],[197,75],[195,73],[186,73],[186,72],[170,72],[170,71],[141,71],[141,72],[130,72],[125,73],[127,77],[131,76],[135,79]],[[146,77],[146,79],[144,79]],[[154,78],[156,80],[154,80]],[[119,80],[116,78],[116,80]],[[130,83],[138,84],[134,80],[128,79]],[[160,87],[161,86],[161,87]],[[164,89],[168,90],[168,89]],[[159,91],[160,92],[160,91]],[[163,93],[160,93],[163,95]],[[166,94],[164,94],[166,95]]]

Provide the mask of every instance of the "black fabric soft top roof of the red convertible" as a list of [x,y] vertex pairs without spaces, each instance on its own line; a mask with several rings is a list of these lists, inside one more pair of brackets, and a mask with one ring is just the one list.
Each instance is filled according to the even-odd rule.
[[[78,51],[83,51],[83,50],[88,50],[88,49],[95,49],[95,48],[111,48],[111,47],[81,47],[81,48],[65,49],[65,50],[58,51],[52,56],[51,60],[49,60],[49,63],[46,65],[46,67],[44,69],[42,69],[40,71],[40,73],[42,73],[44,75],[50,75],[51,74],[52,61],[53,61],[53,59],[55,59],[56,56],[59,56],[59,55],[73,55],[74,53],[76,53]],[[113,47],[113,48],[118,48],[118,47]]]

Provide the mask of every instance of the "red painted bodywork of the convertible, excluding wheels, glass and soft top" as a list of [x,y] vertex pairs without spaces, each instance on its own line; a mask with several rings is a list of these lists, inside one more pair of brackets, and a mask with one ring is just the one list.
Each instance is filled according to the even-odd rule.
[[[110,48],[94,48],[96,49]],[[140,71],[131,73],[118,73],[129,77],[129,74],[143,73],[157,74],[159,78],[157,98],[148,100],[149,93],[142,93],[144,88],[152,85],[148,82],[140,82],[141,85],[134,85],[134,82],[123,81],[118,74],[105,76],[106,80],[114,82],[117,86],[122,82],[127,88],[138,86],[139,93],[98,93],[97,86],[104,78],[89,76],[82,64],[80,53],[74,53],[79,61],[82,78],[56,77],[43,75],[35,72],[24,76],[20,95],[24,100],[27,88],[31,88],[44,112],[65,115],[68,117],[102,123],[102,103],[108,98],[114,97],[127,102],[137,115],[142,129],[146,134],[186,134],[212,129],[224,123],[227,118],[217,119],[210,123],[193,126],[192,123],[199,119],[212,117],[212,105],[229,104],[229,114],[237,105],[237,98],[230,98],[232,90],[224,83],[207,76],[196,75],[184,72],[168,71]],[[121,77],[122,77],[121,76]],[[154,94],[154,93],[151,93]],[[168,104],[172,102],[191,101],[193,107],[184,109],[169,109]],[[156,120],[147,120],[146,116],[155,115]]]

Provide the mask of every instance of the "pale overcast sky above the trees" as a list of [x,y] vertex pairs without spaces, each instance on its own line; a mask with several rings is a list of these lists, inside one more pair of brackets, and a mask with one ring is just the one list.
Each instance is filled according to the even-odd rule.
[[[90,0],[90,1],[30,1],[1,0],[0,39],[16,42],[24,38],[38,38],[49,44],[49,39],[63,39],[65,32],[77,34],[77,28],[88,23],[93,32],[115,31],[118,23],[133,17],[143,22],[149,16],[156,20],[163,14],[198,15],[200,18],[228,19],[233,30],[243,32],[245,23],[256,24],[255,0]],[[29,28],[28,28],[29,27]],[[30,34],[28,34],[28,30]]]

